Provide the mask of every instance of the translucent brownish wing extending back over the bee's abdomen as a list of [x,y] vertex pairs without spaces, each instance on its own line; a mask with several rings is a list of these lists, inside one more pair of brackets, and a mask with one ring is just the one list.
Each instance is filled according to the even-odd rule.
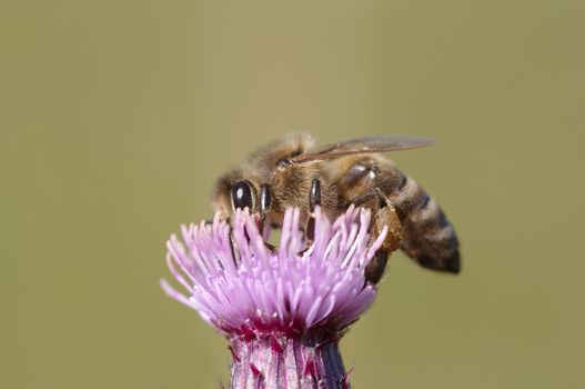
[[434,143],[436,140],[431,138],[387,134],[355,138],[341,141],[334,144],[324,146],[315,151],[294,157],[292,162],[303,163],[317,160],[335,159],[343,156],[361,154],[369,152],[397,151],[415,149]]

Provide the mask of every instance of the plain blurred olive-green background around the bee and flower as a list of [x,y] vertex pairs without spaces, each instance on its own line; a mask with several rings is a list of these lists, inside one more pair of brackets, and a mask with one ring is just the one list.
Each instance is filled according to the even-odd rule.
[[582,1],[0,4],[0,387],[216,388],[224,339],[167,298],[214,179],[304,129],[391,156],[458,277],[393,257],[341,342],[355,388],[585,386]]

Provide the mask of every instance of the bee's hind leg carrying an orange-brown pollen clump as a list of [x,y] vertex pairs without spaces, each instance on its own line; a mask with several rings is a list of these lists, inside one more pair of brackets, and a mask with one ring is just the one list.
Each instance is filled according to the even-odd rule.
[[387,227],[386,238],[364,271],[365,281],[371,285],[377,285],[384,275],[390,253],[400,249],[402,245],[402,225],[396,209],[380,188],[375,188],[353,199],[351,202],[360,206],[373,199],[377,199],[377,207],[373,208],[372,238],[375,240],[382,233],[384,227]]

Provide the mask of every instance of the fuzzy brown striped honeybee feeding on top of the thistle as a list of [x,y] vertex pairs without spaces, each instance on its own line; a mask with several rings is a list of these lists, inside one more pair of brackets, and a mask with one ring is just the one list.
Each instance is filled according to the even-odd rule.
[[432,139],[387,134],[341,141],[319,149],[313,137],[293,133],[252,153],[220,177],[212,205],[223,219],[249,208],[259,225],[281,227],[284,211],[296,207],[312,239],[316,206],[334,219],[351,205],[371,209],[373,238],[389,233],[369,267],[376,285],[392,251],[402,249],[420,266],[458,273],[461,256],[453,226],[438,203],[381,152],[433,143]]

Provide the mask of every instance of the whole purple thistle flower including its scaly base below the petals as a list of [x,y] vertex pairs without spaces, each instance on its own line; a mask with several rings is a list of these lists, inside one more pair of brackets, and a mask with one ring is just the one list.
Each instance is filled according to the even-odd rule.
[[337,341],[375,298],[364,269],[387,229],[373,241],[370,210],[352,206],[332,223],[317,208],[307,248],[300,217],[286,210],[274,250],[270,231],[240,210],[231,226],[215,216],[183,226],[184,245],[168,241],[167,263],[186,292],[161,286],[229,339],[232,388],[349,387]]

